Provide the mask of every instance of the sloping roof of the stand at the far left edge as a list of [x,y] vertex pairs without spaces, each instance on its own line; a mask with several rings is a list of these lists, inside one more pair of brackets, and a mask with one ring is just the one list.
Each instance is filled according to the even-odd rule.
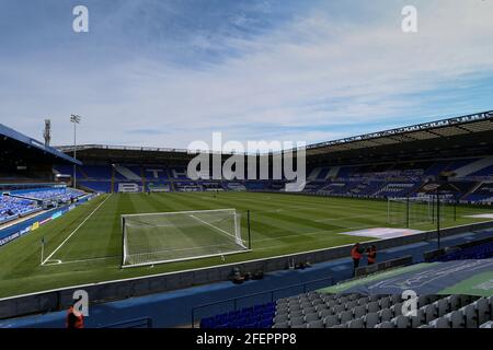
[[43,142],[5,127],[2,124],[0,124],[0,150],[2,150],[0,154],[2,156],[15,158],[22,153],[25,159],[30,160],[46,161],[54,164],[82,164],[64,152],[45,145]]

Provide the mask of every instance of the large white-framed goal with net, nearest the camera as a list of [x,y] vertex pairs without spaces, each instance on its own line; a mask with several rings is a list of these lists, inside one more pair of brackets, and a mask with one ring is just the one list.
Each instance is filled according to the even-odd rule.
[[[244,253],[234,209],[122,215],[122,268]],[[250,230],[249,230],[250,231]]]

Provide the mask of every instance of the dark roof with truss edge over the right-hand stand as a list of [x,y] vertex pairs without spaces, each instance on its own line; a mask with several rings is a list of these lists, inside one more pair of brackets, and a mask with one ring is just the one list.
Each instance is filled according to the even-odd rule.
[[482,155],[493,151],[493,110],[367,133],[307,147],[334,163]]

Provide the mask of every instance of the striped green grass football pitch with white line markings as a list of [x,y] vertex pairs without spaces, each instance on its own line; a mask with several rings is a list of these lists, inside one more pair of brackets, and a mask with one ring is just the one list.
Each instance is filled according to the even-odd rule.
[[[50,258],[64,264],[41,266],[41,238],[46,240],[46,257],[104,200]],[[214,257],[121,269],[122,214],[227,208],[242,214],[243,232],[246,210],[251,211],[252,252],[227,256],[225,261]],[[481,221],[463,218],[479,212],[484,210],[459,208],[458,220],[447,219],[443,226]],[[450,212],[444,214],[451,217]],[[386,201],[254,192],[221,192],[216,197],[207,192],[101,196],[0,247],[0,298],[364,242],[341,233],[389,226],[386,221]],[[412,229],[434,228],[421,224]]]

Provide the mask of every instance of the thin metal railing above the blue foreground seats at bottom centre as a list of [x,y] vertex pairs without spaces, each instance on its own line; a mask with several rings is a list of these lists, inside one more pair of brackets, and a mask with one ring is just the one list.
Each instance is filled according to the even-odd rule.
[[[309,285],[316,284],[316,283],[321,283],[324,281],[330,281],[329,285],[332,285],[334,283],[334,278],[325,277],[325,278],[321,278],[321,279],[303,282],[303,283],[290,284],[290,285],[286,285],[286,287],[282,287],[282,288],[272,289],[268,291],[246,294],[246,295],[242,295],[242,296],[221,300],[221,301],[214,302],[214,303],[207,303],[207,304],[194,306],[194,307],[192,307],[192,318],[191,318],[192,328],[195,328],[195,320],[197,318],[196,313],[198,310],[204,310],[206,307],[211,307],[211,306],[219,306],[219,305],[223,305],[223,304],[232,304],[232,308],[233,308],[232,311],[237,311],[238,306],[239,306],[239,302],[242,300],[252,299],[252,298],[261,296],[261,295],[270,295],[270,301],[274,302],[275,300],[277,300],[279,298],[286,298],[286,296],[291,296],[291,295],[296,295],[296,294],[307,293],[308,291],[311,290],[311,289],[308,289]],[[326,287],[326,284],[324,284],[324,287]],[[289,295],[285,295],[285,296],[277,296],[277,298],[275,296],[279,292],[290,290],[290,289],[299,289],[301,291],[294,292],[294,293],[291,293]],[[265,303],[265,301],[264,301],[264,303]],[[254,302],[253,304],[259,304],[259,303]],[[216,312],[216,314],[217,314],[217,312]],[[204,316],[202,316],[202,317],[204,317]]]

